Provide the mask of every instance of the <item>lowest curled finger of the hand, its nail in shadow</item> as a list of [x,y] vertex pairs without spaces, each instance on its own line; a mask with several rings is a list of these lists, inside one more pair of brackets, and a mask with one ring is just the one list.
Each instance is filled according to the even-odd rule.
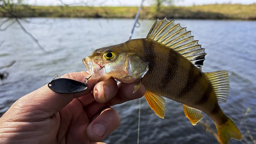
[[90,141],[101,142],[120,124],[120,117],[116,110],[106,108],[99,117],[90,123],[86,129]]

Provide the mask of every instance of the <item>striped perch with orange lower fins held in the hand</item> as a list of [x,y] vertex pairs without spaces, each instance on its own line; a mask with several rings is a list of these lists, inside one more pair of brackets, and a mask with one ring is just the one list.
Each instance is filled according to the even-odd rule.
[[141,84],[150,108],[164,118],[165,99],[180,102],[192,125],[202,118],[202,111],[212,118],[220,143],[242,140],[234,122],[218,102],[227,102],[227,71],[202,72],[206,53],[191,31],[174,20],[157,19],[146,38],[96,49],[82,61],[94,80],[114,78],[134,83],[135,93]]

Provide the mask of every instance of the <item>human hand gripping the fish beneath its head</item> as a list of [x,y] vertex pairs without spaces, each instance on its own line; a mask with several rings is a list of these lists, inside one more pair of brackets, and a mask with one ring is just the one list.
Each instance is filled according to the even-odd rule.
[[[62,78],[84,82],[89,76],[73,72]],[[133,85],[89,79],[88,89],[74,94],[56,93],[45,85],[14,102],[0,118],[0,143],[100,144],[120,123],[109,106],[144,95],[143,85],[135,94]]]

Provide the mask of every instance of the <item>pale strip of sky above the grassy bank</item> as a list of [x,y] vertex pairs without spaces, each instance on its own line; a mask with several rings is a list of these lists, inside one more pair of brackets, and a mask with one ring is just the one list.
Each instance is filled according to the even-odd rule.
[[[139,6],[141,0],[28,0],[28,4],[32,5],[60,5],[60,1],[65,4],[80,4],[86,2],[86,4],[94,6]],[[152,4],[153,0],[145,0],[145,6]],[[192,6],[193,4],[252,4],[256,3],[256,0],[176,0],[174,5],[177,6]]]

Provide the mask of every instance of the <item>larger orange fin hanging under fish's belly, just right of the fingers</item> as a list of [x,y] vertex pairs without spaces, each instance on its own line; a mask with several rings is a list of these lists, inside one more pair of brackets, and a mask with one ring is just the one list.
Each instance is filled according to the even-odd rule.
[[160,95],[153,94],[149,91],[146,91],[145,98],[148,102],[148,105],[152,110],[155,111],[156,115],[164,119],[165,112],[165,100]]

